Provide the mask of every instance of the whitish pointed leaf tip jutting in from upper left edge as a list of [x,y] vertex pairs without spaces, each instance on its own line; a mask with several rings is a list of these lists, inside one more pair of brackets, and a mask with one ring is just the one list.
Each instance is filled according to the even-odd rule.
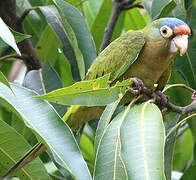
[[11,33],[11,31],[9,30],[9,28],[1,18],[0,18],[0,29],[1,29],[0,38],[9,46],[11,46],[17,52],[17,54],[21,55],[20,50],[16,45],[16,41],[14,39],[13,34]]

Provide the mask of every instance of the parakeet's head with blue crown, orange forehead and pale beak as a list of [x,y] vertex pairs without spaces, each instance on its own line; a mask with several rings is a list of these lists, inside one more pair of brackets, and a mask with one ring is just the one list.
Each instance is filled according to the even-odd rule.
[[191,34],[191,30],[185,22],[177,18],[157,19],[144,31],[148,32],[150,39],[165,41],[170,53],[180,51],[182,56],[188,48],[188,36]]

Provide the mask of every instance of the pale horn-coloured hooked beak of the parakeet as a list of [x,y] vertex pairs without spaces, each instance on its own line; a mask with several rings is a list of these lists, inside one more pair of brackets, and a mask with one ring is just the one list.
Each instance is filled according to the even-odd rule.
[[177,52],[180,51],[180,56],[183,56],[188,48],[188,35],[178,35],[175,38],[172,39],[171,45],[170,45],[170,51],[171,52]]

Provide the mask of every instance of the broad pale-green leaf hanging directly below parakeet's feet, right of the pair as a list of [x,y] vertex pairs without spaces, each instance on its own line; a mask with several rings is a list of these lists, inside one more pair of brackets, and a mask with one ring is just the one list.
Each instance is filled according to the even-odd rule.
[[159,108],[144,103],[125,112],[119,138],[129,179],[165,179],[165,129]]

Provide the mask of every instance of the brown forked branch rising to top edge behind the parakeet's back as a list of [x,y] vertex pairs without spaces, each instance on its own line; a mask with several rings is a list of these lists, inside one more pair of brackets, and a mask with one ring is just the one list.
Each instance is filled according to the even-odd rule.
[[101,43],[99,52],[103,51],[109,45],[112,39],[112,34],[114,32],[114,27],[116,25],[118,17],[120,16],[121,11],[129,10],[135,7],[143,8],[143,6],[141,6],[139,3],[133,4],[134,2],[135,0],[113,0],[112,13],[105,28],[103,41]]

